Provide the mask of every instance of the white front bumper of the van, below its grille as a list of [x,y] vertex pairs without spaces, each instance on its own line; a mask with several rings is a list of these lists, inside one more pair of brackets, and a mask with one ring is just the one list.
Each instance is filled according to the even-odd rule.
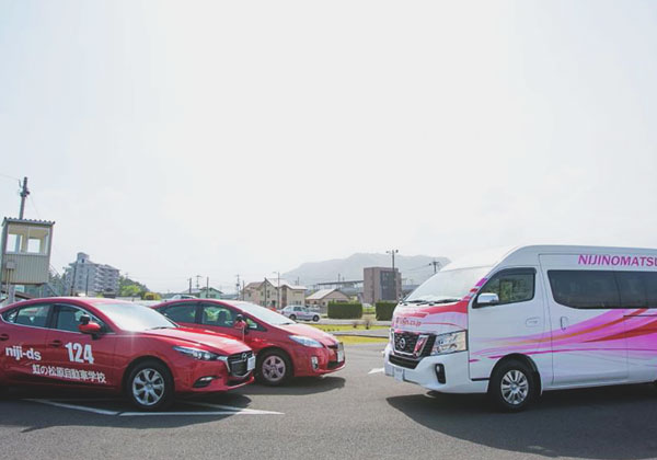
[[[487,380],[470,380],[468,352],[441,356],[427,356],[411,369],[390,361],[390,345],[385,348],[385,375],[395,380],[419,384],[428,390],[442,393],[485,393]],[[440,368],[443,379],[439,379]],[[441,383],[439,380],[443,380]]]

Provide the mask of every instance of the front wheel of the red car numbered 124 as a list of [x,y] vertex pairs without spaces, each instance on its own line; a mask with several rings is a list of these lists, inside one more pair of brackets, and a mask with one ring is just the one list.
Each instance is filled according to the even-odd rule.
[[126,393],[140,411],[162,411],[173,403],[173,378],[162,363],[149,359],[132,368],[126,381]]

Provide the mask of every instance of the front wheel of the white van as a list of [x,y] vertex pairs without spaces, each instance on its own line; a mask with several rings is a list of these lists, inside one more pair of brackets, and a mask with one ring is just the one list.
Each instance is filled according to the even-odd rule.
[[532,402],[537,391],[534,372],[522,361],[509,359],[495,371],[488,383],[488,396],[504,412],[520,412]]

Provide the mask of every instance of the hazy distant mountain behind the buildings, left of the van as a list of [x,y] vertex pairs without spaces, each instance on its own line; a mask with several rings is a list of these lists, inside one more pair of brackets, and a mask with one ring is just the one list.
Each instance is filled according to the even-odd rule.
[[[394,257],[394,265],[402,274],[404,284],[420,284],[434,274],[433,261],[438,261],[440,266],[449,263],[447,257],[430,257],[428,255],[401,255]],[[390,254],[361,254],[357,253],[347,258],[334,258],[323,262],[307,262],[298,268],[283,274],[291,283],[312,287],[318,283],[362,279],[365,267],[389,267],[392,265]]]

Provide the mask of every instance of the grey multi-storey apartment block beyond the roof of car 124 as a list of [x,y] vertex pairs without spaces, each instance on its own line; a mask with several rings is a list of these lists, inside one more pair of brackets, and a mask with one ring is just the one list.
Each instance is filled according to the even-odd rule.
[[118,292],[118,268],[99,264],[89,254],[78,253],[76,262],[69,264],[64,275],[68,294],[87,296],[115,296]]

